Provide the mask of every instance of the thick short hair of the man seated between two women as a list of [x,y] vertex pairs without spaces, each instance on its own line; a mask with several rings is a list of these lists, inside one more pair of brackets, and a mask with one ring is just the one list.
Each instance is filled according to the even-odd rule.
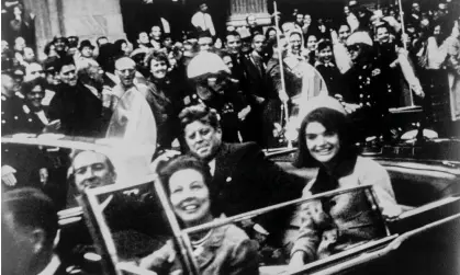
[[184,131],[187,125],[200,122],[205,125],[210,125],[214,129],[221,128],[218,123],[217,111],[210,108],[203,104],[192,105],[184,107],[179,114],[180,126],[182,133]]

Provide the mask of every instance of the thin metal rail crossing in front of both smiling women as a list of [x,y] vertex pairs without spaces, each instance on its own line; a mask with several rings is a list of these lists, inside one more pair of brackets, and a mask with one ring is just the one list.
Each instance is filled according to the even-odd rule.
[[204,231],[207,229],[212,229],[215,227],[222,227],[232,222],[237,222],[237,221],[242,221],[245,219],[249,219],[256,216],[260,216],[262,214],[272,211],[272,210],[277,210],[279,208],[283,208],[287,206],[291,206],[291,205],[299,205],[308,200],[313,200],[316,198],[323,198],[323,197],[328,197],[328,196],[335,196],[335,195],[340,195],[344,193],[348,193],[348,192],[352,192],[352,191],[358,191],[358,190],[371,190],[372,185],[371,184],[366,184],[366,185],[360,185],[360,186],[355,186],[355,187],[349,187],[349,188],[340,188],[340,190],[334,190],[334,191],[328,191],[328,192],[324,192],[317,195],[312,195],[310,197],[302,197],[302,198],[298,198],[298,199],[293,199],[293,200],[289,200],[285,203],[280,203],[280,204],[276,204],[276,205],[271,205],[268,207],[263,207],[260,209],[256,209],[256,210],[251,210],[251,211],[247,211],[247,213],[243,213],[239,215],[235,215],[228,218],[220,218],[216,219],[214,221],[204,224],[204,225],[200,225],[200,226],[195,226],[195,227],[191,227],[191,228],[187,228],[182,230],[182,233],[186,234],[190,234],[190,233],[194,233],[194,232],[199,232],[199,231]]

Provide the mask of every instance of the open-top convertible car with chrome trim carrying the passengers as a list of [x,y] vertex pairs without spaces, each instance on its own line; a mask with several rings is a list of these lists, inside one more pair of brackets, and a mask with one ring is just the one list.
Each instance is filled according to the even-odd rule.
[[[449,146],[458,148],[456,142]],[[5,136],[2,137],[2,167],[14,168],[18,177],[22,173],[23,179],[59,203],[61,233],[57,253],[63,262],[90,274],[169,274],[166,268],[147,271],[136,264],[168,240],[172,240],[177,251],[180,266],[177,274],[200,274],[189,238],[191,233],[231,222],[244,225],[283,207],[347,192],[367,194],[370,209],[382,221],[384,233],[381,238],[359,243],[302,268],[289,270],[287,248],[266,245],[263,234],[256,230],[250,237],[260,244],[260,274],[460,274],[460,162],[440,159],[439,154],[429,157],[419,151],[417,154],[415,149],[407,153],[409,146],[405,148],[391,150],[389,147],[378,152],[363,152],[380,162],[391,175],[396,200],[404,209],[392,220],[381,217],[372,186],[359,186],[183,229],[171,210],[162,185],[149,169],[156,148],[136,148],[110,139],[27,134]],[[114,163],[116,183],[88,190],[79,197],[67,175],[72,150],[104,153]],[[405,153],[399,154],[399,150]],[[288,172],[305,179],[315,176],[315,169],[296,170],[291,165],[294,152],[295,148],[270,150],[267,158]],[[420,158],[420,153],[425,157]],[[47,173],[43,173],[43,169]],[[76,197],[80,198],[77,199],[79,206],[72,207]],[[299,227],[292,225],[287,234],[295,236],[298,230]]]

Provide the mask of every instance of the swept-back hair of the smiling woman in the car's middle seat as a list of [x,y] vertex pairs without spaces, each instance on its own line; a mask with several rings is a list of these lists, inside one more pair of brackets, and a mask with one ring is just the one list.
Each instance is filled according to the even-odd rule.
[[[158,169],[157,169],[158,176],[161,180],[161,184],[164,185],[167,195],[168,196],[171,195],[170,190],[169,190],[169,180],[171,179],[172,174],[175,174],[178,171],[186,170],[186,169],[195,170],[197,172],[203,175],[204,185],[206,185],[207,190],[210,190],[210,196],[211,196],[210,185],[211,185],[212,175],[210,172],[210,167],[207,165],[207,163],[190,154],[178,156],[169,160],[168,162],[160,163],[158,165]],[[216,209],[213,208],[212,199],[210,200],[211,200],[211,213],[215,215],[217,214]]]

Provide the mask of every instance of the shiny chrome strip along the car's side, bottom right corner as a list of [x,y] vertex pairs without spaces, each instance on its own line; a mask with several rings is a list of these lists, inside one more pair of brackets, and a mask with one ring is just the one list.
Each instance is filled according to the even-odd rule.
[[[381,250],[369,252],[369,253],[363,253],[363,254],[361,254],[361,255],[359,255],[357,257],[354,257],[354,259],[351,259],[349,261],[346,261],[346,262],[343,262],[343,263],[338,263],[338,264],[335,264],[335,265],[333,265],[330,267],[321,270],[321,271],[318,271],[318,273],[322,274],[322,275],[336,274],[338,272],[343,272],[345,270],[348,270],[348,268],[358,266],[360,264],[368,263],[368,262],[370,262],[372,260],[377,260],[379,257],[385,256],[385,255],[390,254],[391,252],[397,250],[397,248],[403,242],[405,242],[406,240],[408,240],[409,238],[412,238],[414,236],[417,236],[417,234],[419,234],[422,232],[428,231],[428,230],[430,230],[433,228],[436,228],[438,226],[441,226],[441,225],[444,225],[446,222],[449,222],[449,221],[452,221],[455,219],[458,219],[458,218],[460,218],[460,214],[456,214],[456,215],[449,216],[447,218],[444,218],[444,219],[434,221],[431,224],[425,225],[425,226],[423,226],[420,228],[417,228],[417,229],[407,231],[407,232],[399,236],[396,239],[394,239],[392,242],[390,242],[386,247],[384,247]],[[287,274],[289,274],[289,275],[303,274],[307,270],[312,268],[313,264],[314,263],[306,264],[306,265],[304,265],[304,267],[302,267],[302,270],[294,271],[292,273],[287,273]]]

